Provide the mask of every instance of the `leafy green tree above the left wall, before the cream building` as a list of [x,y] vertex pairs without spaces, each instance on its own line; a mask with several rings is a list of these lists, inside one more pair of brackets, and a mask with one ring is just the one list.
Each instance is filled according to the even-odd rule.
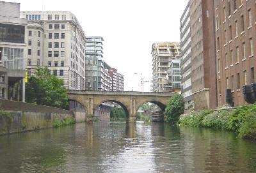
[[67,109],[68,95],[63,80],[51,75],[45,66],[36,67],[26,83],[26,102]]

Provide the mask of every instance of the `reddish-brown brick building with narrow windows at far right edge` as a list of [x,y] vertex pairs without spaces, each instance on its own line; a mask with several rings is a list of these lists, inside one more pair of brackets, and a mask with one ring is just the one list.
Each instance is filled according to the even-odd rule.
[[214,0],[218,106],[230,104],[226,89],[235,106],[246,103],[242,88],[255,82],[255,13],[252,0]]

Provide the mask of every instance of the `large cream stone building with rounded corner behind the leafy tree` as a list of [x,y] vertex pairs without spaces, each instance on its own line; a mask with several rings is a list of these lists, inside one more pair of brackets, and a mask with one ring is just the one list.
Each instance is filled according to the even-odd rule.
[[48,66],[67,89],[85,89],[86,38],[76,16],[68,11],[22,11],[28,20],[26,68]]

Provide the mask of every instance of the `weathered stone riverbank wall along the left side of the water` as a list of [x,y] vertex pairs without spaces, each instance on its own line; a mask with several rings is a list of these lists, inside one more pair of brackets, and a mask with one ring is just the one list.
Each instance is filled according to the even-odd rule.
[[0,100],[0,105],[10,112],[10,116],[0,115],[0,135],[52,128],[67,119],[74,121],[71,110],[11,100]]

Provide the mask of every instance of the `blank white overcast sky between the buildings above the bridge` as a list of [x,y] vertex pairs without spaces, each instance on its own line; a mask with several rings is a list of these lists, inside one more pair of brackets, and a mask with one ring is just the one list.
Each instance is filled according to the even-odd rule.
[[[3,1],[3,0],[1,0]],[[86,36],[104,38],[104,61],[125,76],[125,91],[152,79],[152,43],[180,41],[179,20],[189,0],[10,0],[20,11],[71,11]],[[138,73],[138,75],[134,75]],[[144,91],[150,90],[150,82]]]

